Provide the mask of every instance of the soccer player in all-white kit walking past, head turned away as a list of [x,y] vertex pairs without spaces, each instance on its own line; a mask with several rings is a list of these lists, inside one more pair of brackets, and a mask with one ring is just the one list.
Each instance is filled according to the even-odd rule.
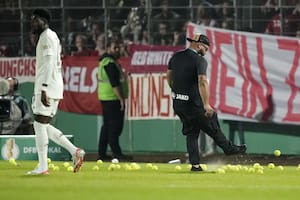
[[36,46],[35,84],[32,98],[34,130],[39,165],[29,175],[48,174],[48,141],[53,140],[73,156],[74,172],[80,169],[84,150],[74,146],[68,138],[50,124],[63,98],[61,45],[57,34],[49,28],[50,13],[36,9],[31,17],[32,33],[38,36]]

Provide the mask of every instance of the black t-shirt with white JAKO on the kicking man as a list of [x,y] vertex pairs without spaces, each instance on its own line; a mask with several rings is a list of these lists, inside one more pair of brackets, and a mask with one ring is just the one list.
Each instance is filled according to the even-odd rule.
[[191,49],[178,51],[170,59],[168,69],[172,70],[174,102],[203,108],[198,89],[198,75],[206,75],[205,58]]

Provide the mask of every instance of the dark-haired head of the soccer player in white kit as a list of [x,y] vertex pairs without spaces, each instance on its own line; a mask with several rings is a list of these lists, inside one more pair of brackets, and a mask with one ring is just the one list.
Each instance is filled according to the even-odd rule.
[[31,15],[31,31],[33,34],[42,33],[48,27],[51,15],[46,9],[35,9]]

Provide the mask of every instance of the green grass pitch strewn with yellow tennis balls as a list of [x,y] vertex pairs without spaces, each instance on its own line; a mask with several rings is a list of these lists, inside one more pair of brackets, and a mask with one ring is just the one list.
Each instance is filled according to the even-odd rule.
[[[187,164],[85,162],[79,173],[53,161],[50,174],[28,176],[36,161],[0,161],[1,200],[209,200],[299,199],[297,166],[207,165],[192,173]],[[206,166],[203,166],[204,168]],[[298,169],[299,168],[299,169]],[[71,170],[71,168],[69,168]]]

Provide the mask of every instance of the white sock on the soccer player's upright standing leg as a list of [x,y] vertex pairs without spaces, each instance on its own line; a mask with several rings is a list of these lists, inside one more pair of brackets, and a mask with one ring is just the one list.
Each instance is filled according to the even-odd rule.
[[37,121],[33,122],[35,131],[35,144],[38,152],[39,169],[42,171],[48,170],[48,124],[42,124]]

